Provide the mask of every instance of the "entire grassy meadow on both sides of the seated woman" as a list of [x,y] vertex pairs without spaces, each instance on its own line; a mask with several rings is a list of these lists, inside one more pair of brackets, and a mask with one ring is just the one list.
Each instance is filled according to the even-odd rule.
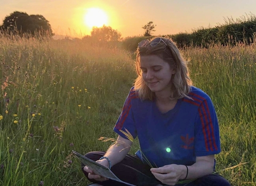
[[[217,171],[233,185],[256,185],[255,47],[182,52],[217,110]],[[135,78],[132,56],[79,41],[0,37],[0,69],[0,185],[86,185],[71,150],[107,150],[111,142],[98,138],[116,137]]]

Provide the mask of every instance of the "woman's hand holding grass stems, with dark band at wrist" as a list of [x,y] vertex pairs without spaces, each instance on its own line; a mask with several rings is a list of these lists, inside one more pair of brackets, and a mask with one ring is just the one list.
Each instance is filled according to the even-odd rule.
[[163,167],[151,168],[151,173],[157,180],[167,185],[175,185],[180,179],[186,176],[187,168],[184,165],[165,165]]

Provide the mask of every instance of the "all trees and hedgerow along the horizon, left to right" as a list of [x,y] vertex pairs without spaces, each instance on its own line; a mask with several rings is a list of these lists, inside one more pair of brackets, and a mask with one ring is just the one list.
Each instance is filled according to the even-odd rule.
[[[122,38],[121,33],[109,26],[93,27],[91,35],[84,36],[83,41],[92,45],[106,43],[120,45],[124,49],[134,51],[139,41],[142,39],[150,39],[156,25],[153,21],[149,21],[143,27],[143,35],[135,37]],[[29,34],[30,36],[47,35],[53,36],[51,25],[43,15],[28,15],[24,12],[15,11],[6,16],[0,32],[9,34]],[[210,44],[236,45],[239,43],[251,44],[254,42],[256,33],[256,16],[254,14],[246,14],[234,20],[233,18],[225,19],[225,23],[219,24],[213,28],[199,28],[191,33],[180,32],[174,35],[161,35],[162,37],[171,38],[178,47],[208,47]]]

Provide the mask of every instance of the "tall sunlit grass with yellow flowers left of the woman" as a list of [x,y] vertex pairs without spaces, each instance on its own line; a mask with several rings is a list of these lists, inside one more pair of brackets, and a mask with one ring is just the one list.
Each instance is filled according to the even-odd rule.
[[114,137],[131,58],[72,41],[0,43],[0,185],[84,185],[71,150],[107,148],[98,136]]

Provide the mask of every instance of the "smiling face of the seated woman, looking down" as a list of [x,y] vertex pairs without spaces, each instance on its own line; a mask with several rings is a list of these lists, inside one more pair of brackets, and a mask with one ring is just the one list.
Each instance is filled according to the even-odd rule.
[[157,55],[140,56],[142,78],[153,92],[170,94],[172,75],[175,70]]

